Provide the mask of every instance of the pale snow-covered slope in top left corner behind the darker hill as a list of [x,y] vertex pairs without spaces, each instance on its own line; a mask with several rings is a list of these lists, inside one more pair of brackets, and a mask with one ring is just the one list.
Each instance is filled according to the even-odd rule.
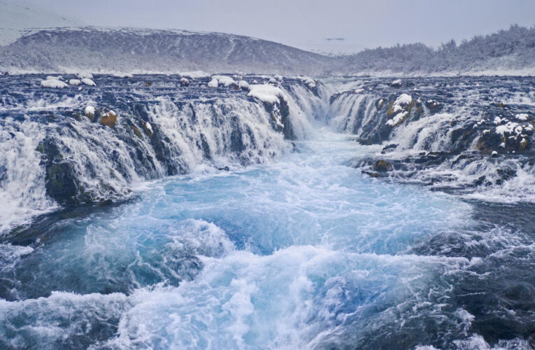
[[0,45],[13,43],[28,28],[72,27],[78,20],[65,18],[24,1],[0,0]]

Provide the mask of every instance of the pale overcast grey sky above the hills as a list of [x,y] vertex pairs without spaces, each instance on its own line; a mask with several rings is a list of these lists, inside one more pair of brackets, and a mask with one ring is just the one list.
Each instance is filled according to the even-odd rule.
[[[535,0],[30,0],[89,24],[223,31],[314,49],[428,45],[535,25]],[[345,38],[345,41],[327,41]]]

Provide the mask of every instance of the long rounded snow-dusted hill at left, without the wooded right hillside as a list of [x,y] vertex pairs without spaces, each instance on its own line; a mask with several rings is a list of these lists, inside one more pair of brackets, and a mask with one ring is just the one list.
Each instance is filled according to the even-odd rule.
[[158,29],[45,29],[0,48],[6,71],[324,73],[332,62],[248,36]]

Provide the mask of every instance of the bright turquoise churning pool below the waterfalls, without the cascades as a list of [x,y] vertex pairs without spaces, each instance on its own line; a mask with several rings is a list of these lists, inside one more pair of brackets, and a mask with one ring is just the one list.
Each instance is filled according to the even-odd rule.
[[55,222],[31,248],[4,245],[0,337],[298,349],[463,332],[471,316],[448,291],[471,262],[411,249],[462,230],[471,206],[348,167],[366,147],[321,130],[272,164],[150,183]]

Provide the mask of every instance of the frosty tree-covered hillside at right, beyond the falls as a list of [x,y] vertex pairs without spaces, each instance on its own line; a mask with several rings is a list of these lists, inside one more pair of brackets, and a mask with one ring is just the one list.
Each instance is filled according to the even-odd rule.
[[535,75],[535,27],[518,25],[434,50],[422,43],[364,50],[340,57],[343,73],[531,73]]

